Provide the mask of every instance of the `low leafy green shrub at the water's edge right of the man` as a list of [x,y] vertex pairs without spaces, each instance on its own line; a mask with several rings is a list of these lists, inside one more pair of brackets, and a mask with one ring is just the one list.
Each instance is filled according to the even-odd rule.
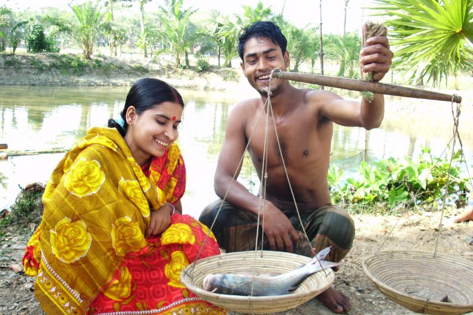
[[[418,160],[383,159],[373,163],[362,161],[357,178],[341,180],[343,170],[336,165],[328,173],[332,202],[356,212],[393,211],[417,206],[438,206],[447,189],[447,203],[462,202],[466,194],[467,178],[462,178],[456,162],[457,152],[450,168],[449,158],[433,158],[430,149],[423,149]],[[446,179],[450,170],[448,187]]]

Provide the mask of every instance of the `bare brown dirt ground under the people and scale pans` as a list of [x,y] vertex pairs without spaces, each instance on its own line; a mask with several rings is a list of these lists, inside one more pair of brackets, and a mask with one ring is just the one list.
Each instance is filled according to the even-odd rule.
[[[452,262],[455,257],[470,260],[473,266],[473,222],[454,223],[453,216],[457,212],[456,209],[446,210],[438,253],[451,254]],[[380,249],[383,242],[385,244],[381,247],[381,251],[434,252],[440,212],[407,211],[403,216],[354,215],[353,220],[357,231],[353,248],[343,259],[343,265],[336,273],[334,283],[338,290],[350,296],[351,309],[346,314],[416,314],[384,296],[363,272],[362,261]],[[31,228],[34,229],[34,226]],[[390,234],[391,230],[393,232]],[[23,271],[14,270],[16,265],[21,265],[21,257],[28,237],[28,234],[10,235],[0,243],[0,315],[44,314],[34,298],[34,279],[27,277]],[[277,314],[329,315],[333,313],[313,299],[295,309]]]

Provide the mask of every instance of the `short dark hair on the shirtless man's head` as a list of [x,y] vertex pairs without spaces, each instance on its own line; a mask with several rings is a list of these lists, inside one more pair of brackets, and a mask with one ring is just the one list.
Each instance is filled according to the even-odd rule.
[[245,43],[248,39],[253,37],[256,37],[257,39],[269,38],[274,44],[281,48],[283,55],[286,52],[287,39],[281,32],[281,29],[270,21],[258,21],[241,30],[241,34],[238,37],[238,55],[243,62]]

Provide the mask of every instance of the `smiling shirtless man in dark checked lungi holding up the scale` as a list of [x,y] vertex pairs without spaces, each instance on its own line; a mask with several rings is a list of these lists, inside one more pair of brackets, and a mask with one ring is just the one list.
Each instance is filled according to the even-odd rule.
[[[270,85],[274,118],[269,118],[268,128],[266,199],[253,195],[233,181],[226,201],[222,204],[222,200],[217,200],[208,205],[199,220],[211,226],[221,208],[212,228],[220,246],[227,252],[248,251],[256,245],[260,211],[264,249],[312,256],[313,252],[332,246],[327,259],[340,261],[351,249],[354,225],[348,214],[331,205],[327,172],[333,124],[366,129],[378,127],[384,115],[384,98],[374,95],[371,103],[365,99],[360,103],[344,100],[329,91],[296,89],[283,79],[273,78],[270,82],[272,69],[279,67],[285,71],[289,68],[286,44],[281,30],[271,22],[256,22],[240,35],[241,69],[261,97],[239,102],[231,111],[214,178],[215,192],[224,198],[234,175],[239,173],[241,166],[238,163],[255,128],[248,152],[260,180],[265,181],[262,165],[266,112],[258,124],[257,120],[268,97],[265,88]],[[367,45],[360,52],[361,69],[365,73],[374,71],[373,79],[379,81],[389,70],[393,53],[384,36],[368,39]],[[279,141],[273,124],[277,126]],[[312,246],[304,240],[303,230]],[[335,288],[326,290],[318,298],[335,313],[349,308],[348,297]]]

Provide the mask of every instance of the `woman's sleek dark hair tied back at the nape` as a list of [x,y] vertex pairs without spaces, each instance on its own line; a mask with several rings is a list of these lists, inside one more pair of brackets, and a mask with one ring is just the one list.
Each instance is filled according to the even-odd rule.
[[128,107],[134,106],[136,113],[139,115],[145,110],[148,110],[153,106],[163,102],[179,103],[181,104],[182,108],[184,108],[182,96],[168,83],[159,79],[140,79],[135,82],[135,84],[130,89],[130,92],[128,92],[127,100],[125,101],[125,107],[120,113],[120,116],[124,121],[123,126],[121,126],[115,120],[109,119],[108,127],[117,128],[120,134],[124,137],[128,130],[128,124],[125,119],[125,114],[127,113]]

